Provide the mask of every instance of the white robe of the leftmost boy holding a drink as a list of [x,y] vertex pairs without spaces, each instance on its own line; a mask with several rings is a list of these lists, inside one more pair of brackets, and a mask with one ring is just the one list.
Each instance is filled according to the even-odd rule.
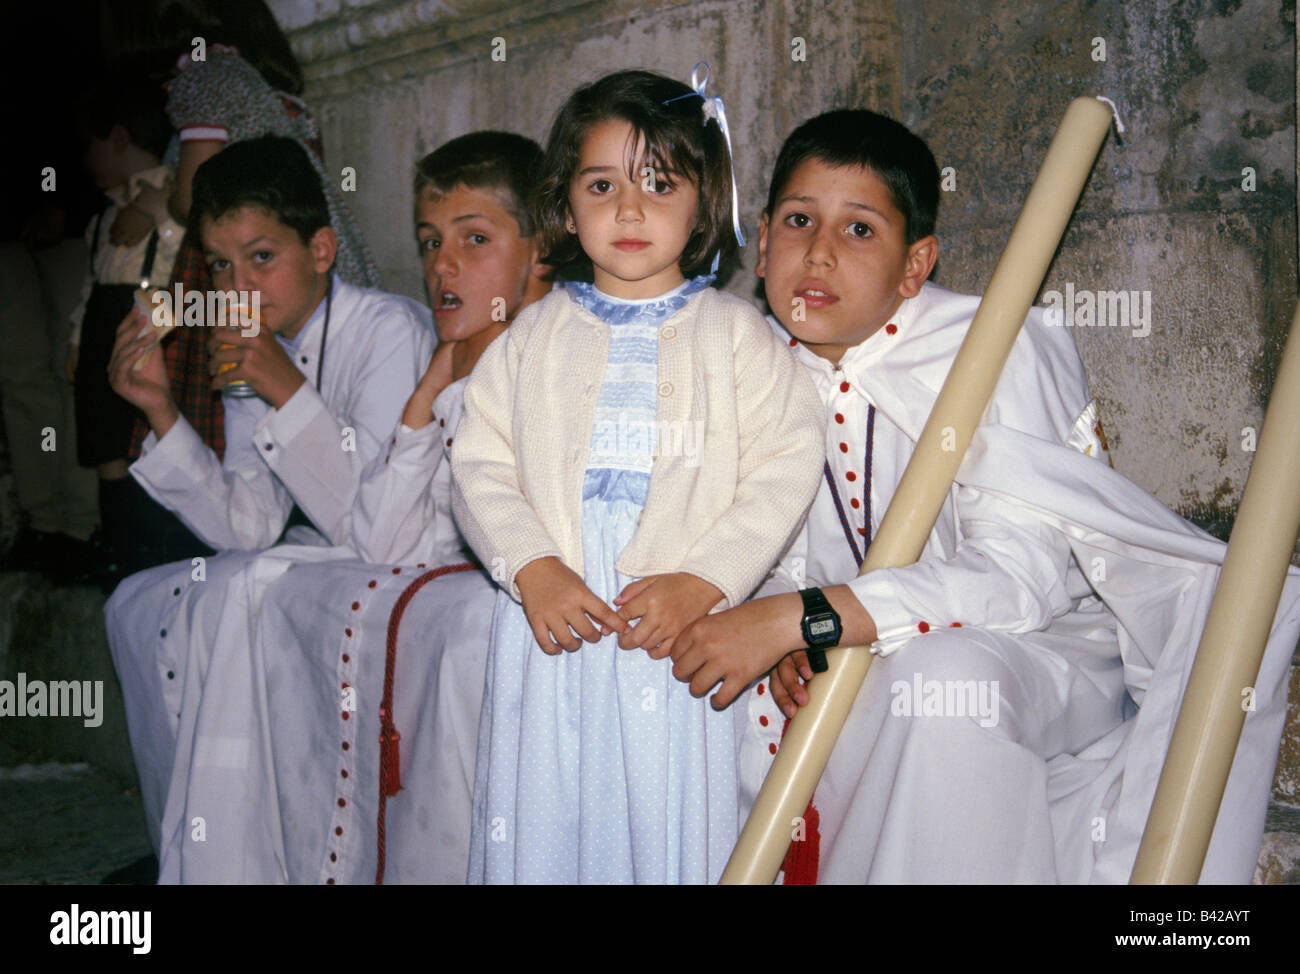
[[[266,787],[266,693],[251,620],[285,549],[263,560],[296,502],[318,531],[294,528],[292,558],[350,557],[342,544],[363,467],[428,363],[432,316],[396,295],[333,282],[292,343],[307,381],[280,410],[226,399],[221,463],[183,420],[133,476],[222,554],[124,581],[105,606],[161,882],[283,878],[274,789]],[[252,550],[238,550],[252,549]],[[250,652],[251,650],[251,652]]]

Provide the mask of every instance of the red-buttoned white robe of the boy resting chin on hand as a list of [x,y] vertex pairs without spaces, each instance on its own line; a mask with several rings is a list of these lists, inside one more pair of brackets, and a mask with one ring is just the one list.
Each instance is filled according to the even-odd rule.
[[[463,390],[464,380],[447,386],[433,423],[399,427],[367,468],[352,521],[364,560],[292,566],[261,602],[256,642],[289,882],[376,880],[387,628],[406,588],[439,566],[458,570],[420,588],[398,628],[402,791],[386,801],[384,882],[465,882],[495,586],[478,570],[459,570],[469,566],[451,518],[447,453]],[[355,689],[347,719],[343,683]]]

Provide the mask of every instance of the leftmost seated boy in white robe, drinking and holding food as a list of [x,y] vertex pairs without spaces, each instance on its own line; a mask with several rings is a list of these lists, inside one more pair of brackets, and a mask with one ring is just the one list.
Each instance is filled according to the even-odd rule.
[[[153,334],[143,313],[120,326],[109,365],[113,389],[151,427],[131,475],[224,551],[140,572],[104,610],[164,879],[183,878],[186,843],[216,854],[221,847],[208,844],[207,830],[230,835],[231,809],[263,800],[260,783],[243,774],[256,720],[229,735],[202,731],[204,719],[220,722],[225,713],[235,726],[231,714],[255,709],[247,659],[216,653],[228,645],[248,655],[243,610],[256,593],[246,567],[285,533],[295,507],[300,525],[289,538],[346,542],[361,469],[380,453],[433,345],[428,311],[417,303],[332,273],[337,239],[328,204],[292,140],[252,139],[205,163],[190,220],[217,289],[257,308],[239,328],[211,329],[213,388],[252,393],[225,398],[225,456],[218,460],[179,415],[162,356],[146,355]],[[173,313],[185,320],[183,307]],[[205,782],[217,797],[196,811],[186,792],[204,767],[213,770]]]

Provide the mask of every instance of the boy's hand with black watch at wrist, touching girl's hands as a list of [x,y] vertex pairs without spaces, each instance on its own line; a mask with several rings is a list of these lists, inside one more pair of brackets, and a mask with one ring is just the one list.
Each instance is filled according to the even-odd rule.
[[[755,598],[725,612],[706,615],[673,642],[672,675],[689,683],[696,697],[722,681],[722,689],[711,698],[714,707],[722,710],[803,642],[802,614],[802,599],[786,594]],[[774,681],[774,693],[775,689]]]

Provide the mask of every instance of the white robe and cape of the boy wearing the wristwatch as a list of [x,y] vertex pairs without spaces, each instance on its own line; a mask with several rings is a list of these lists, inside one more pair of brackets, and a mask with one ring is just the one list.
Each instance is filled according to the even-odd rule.
[[[874,531],[978,303],[927,283],[838,367],[798,349],[827,404],[855,538],[868,406]],[[1104,449],[1072,337],[1034,311],[915,564],[858,579],[823,482],[762,593],[850,584],[883,658],[814,796],[819,882],[1127,882],[1226,547],[1098,462]],[[1297,576],[1202,882],[1249,882],[1254,867],[1300,632]],[[967,697],[967,681],[992,696]],[[954,688],[936,707],[945,717],[924,715],[931,683]],[[762,684],[736,718],[748,813],[784,718]]]

